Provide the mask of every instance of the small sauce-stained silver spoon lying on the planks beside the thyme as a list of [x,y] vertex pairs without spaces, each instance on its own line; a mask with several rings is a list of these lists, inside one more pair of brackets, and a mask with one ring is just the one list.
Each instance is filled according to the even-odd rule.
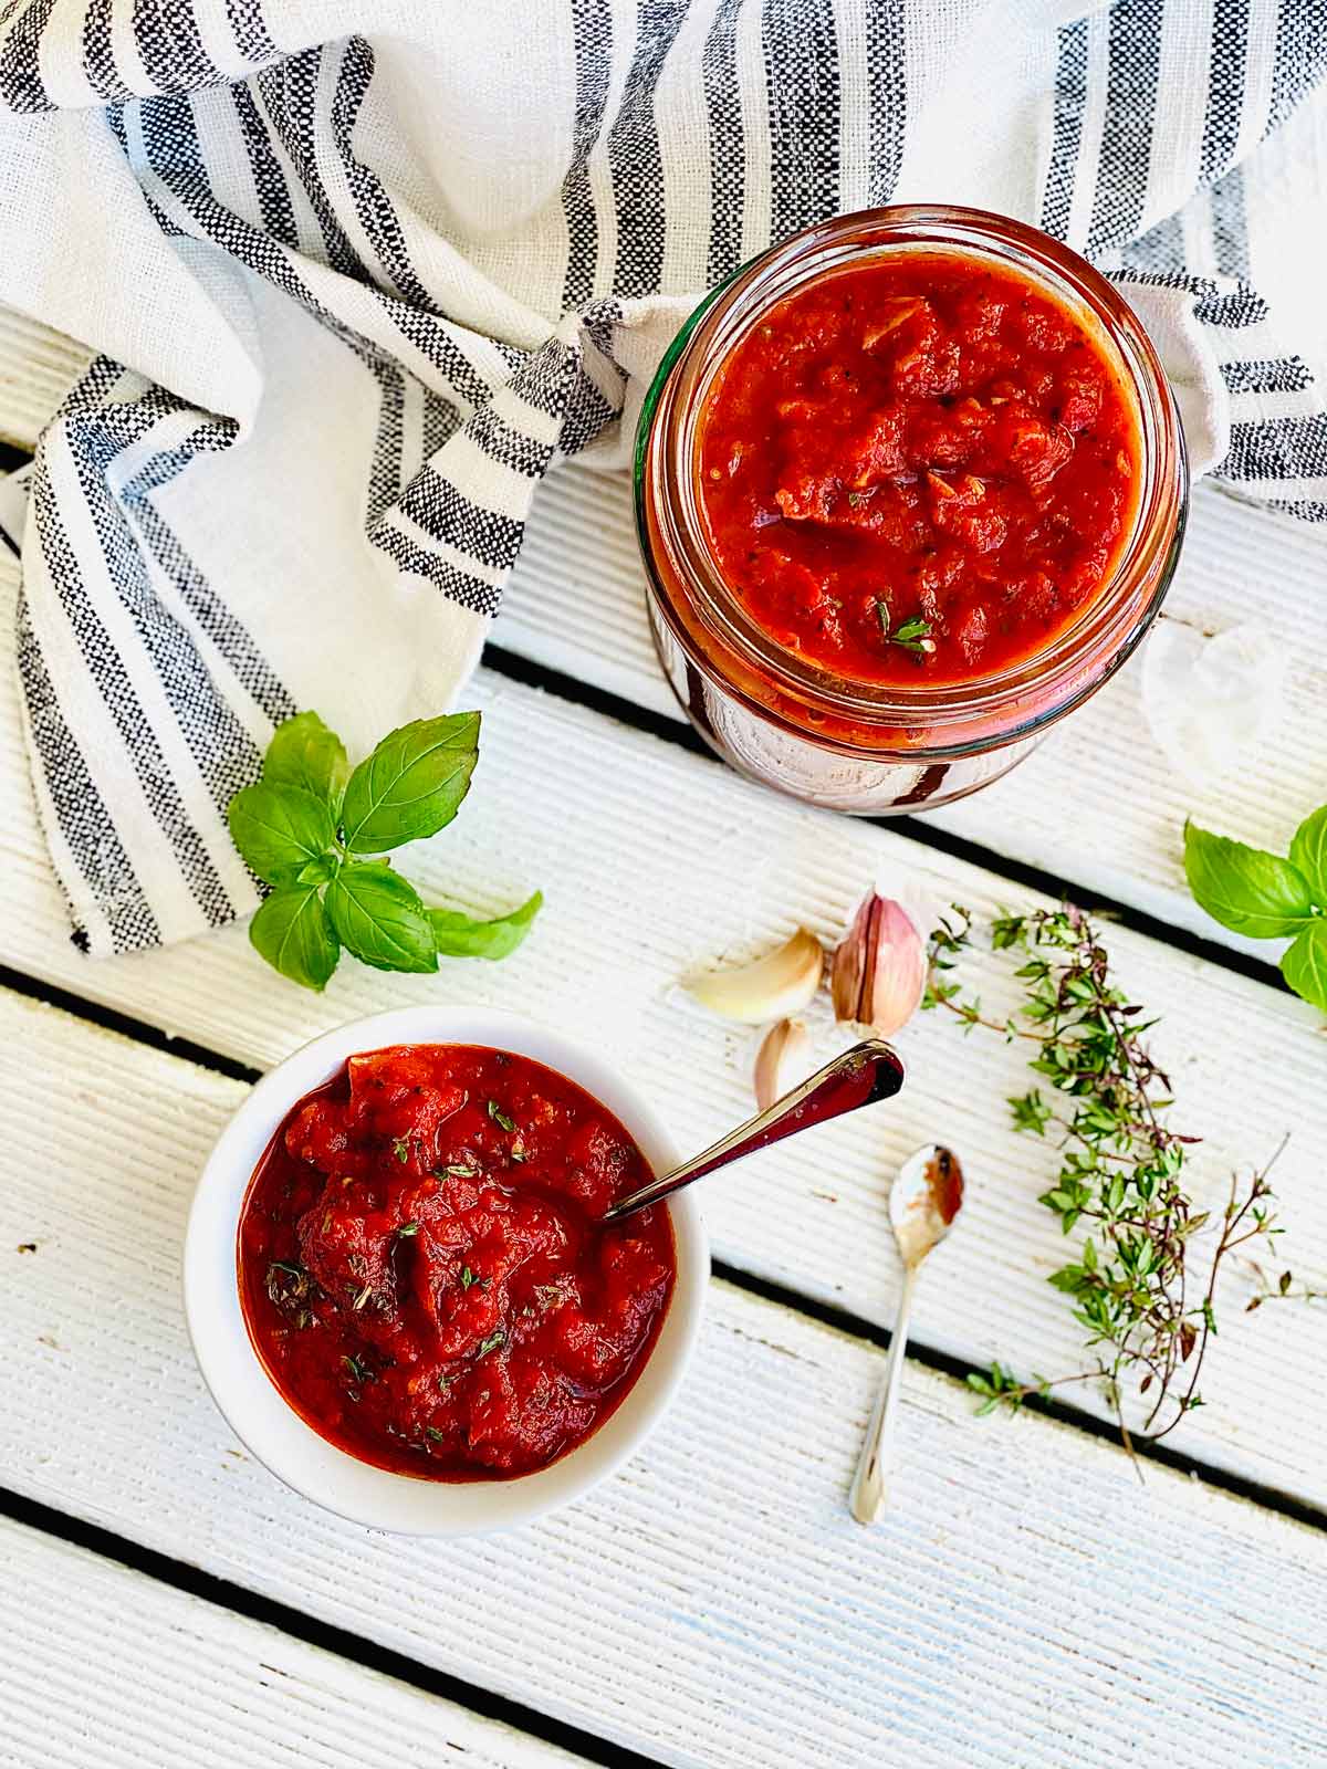
[[902,1254],[902,1290],[899,1291],[899,1313],[894,1318],[885,1380],[876,1396],[867,1440],[862,1445],[862,1459],[856,1465],[856,1479],[848,1497],[848,1507],[858,1523],[874,1523],[885,1509],[885,1468],[894,1412],[902,1387],[913,1284],[922,1260],[948,1235],[961,1208],[963,1168],[959,1157],[943,1143],[925,1143],[904,1160],[890,1187],[890,1226]]

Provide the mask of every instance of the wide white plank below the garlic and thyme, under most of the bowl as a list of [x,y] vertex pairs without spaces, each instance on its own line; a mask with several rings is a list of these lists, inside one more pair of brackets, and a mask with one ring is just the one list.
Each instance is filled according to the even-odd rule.
[[534,1528],[393,1541],[297,1500],[234,1444],[180,1320],[193,1175],[241,1091],[0,996],[19,1491],[669,1764],[1322,1760],[1322,1534],[1161,1468],[1139,1489],[1065,1426],[975,1422],[915,1367],[894,1505],[862,1530],[879,1357],[729,1286],[646,1452]]

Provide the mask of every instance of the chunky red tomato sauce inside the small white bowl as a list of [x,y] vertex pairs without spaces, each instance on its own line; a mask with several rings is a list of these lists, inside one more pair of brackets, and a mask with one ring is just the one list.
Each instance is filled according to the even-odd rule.
[[249,1337],[278,1390],[363,1461],[502,1479],[584,1442],[640,1375],[676,1275],[626,1129],[531,1058],[352,1056],[299,1100],[239,1219]]

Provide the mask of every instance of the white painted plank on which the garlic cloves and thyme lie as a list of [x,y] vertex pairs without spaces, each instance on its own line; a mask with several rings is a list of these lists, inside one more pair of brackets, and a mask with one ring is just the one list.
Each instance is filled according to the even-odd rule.
[[[0,624],[4,617],[0,616]],[[0,679],[0,695],[12,686]],[[485,678],[483,759],[456,824],[405,858],[430,897],[495,911],[541,884],[548,904],[517,957],[449,962],[435,978],[387,976],[349,961],[326,996],[283,982],[244,929],[170,952],[88,964],[65,938],[27,793],[14,720],[0,701],[0,959],[242,1061],[265,1067],[313,1033],[402,1001],[515,1007],[556,1021],[616,1060],[655,1097],[683,1146],[702,1148],[750,1111],[752,1038],[706,1019],[678,978],[807,922],[832,938],[876,874],[934,902],[1010,899],[1000,879],[851,819],[805,810],[671,745],[593,713]],[[1016,895],[1016,893],[1014,893]],[[1111,934],[1125,985],[1164,1015],[1155,1045],[1173,1072],[1177,1123],[1203,1136],[1200,1194],[1235,1166],[1277,1168],[1285,1258],[1327,1281],[1327,1042],[1316,1015],[1263,985],[1125,930]],[[888,1323],[897,1288],[885,1194],[918,1143],[941,1136],[970,1178],[963,1231],[920,1286],[922,1343],[1021,1371],[1081,1367],[1081,1334],[1044,1277],[1065,1258],[1037,1205],[1053,1152],[1007,1127],[1026,1090],[1016,1049],[961,1038],[931,1015],[899,1040],[911,1079],[890,1107],[817,1130],[706,1187],[718,1256]],[[828,1054],[828,1047],[826,1054]],[[1203,1380],[1207,1406],[1173,1442],[1223,1468],[1327,1505],[1327,1417],[1306,1408],[1327,1352],[1327,1309],[1265,1307],[1242,1318],[1240,1274],[1223,1290],[1224,1330]],[[1083,1405],[1102,1403],[1079,1387]],[[1285,1422],[1297,1421],[1288,1431]]]

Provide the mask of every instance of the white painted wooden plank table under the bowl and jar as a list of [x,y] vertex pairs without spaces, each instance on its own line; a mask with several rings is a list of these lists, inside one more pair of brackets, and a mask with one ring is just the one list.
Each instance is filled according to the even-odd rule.
[[[0,437],[30,448],[80,359],[0,315]],[[0,552],[4,630],[14,591]],[[1322,1288],[1327,1038],[1269,948],[1189,902],[1178,828],[1281,846],[1327,798],[1327,538],[1200,490],[1168,617],[1251,614],[1292,653],[1286,711],[1208,793],[1148,741],[1131,667],[1000,785],[869,826],[699,754],[655,669],[625,485],[559,472],[474,686],[483,789],[412,853],[476,911],[541,883],[538,930],[435,978],[341,966],[322,998],[241,927],[80,957],[0,672],[0,1762],[1327,1762],[1327,1311],[1242,1316],[1233,1274],[1208,1405],[1141,1486],[1086,1389],[973,1419],[963,1375],[991,1357],[1079,1364],[1042,1283],[1053,1152],[1007,1129],[1026,1083],[996,1040],[922,1015],[894,1107],[706,1192],[717,1270],[679,1405],[625,1474],[511,1537],[396,1541],[285,1491],[205,1394],[179,1298],[207,1146],[311,1033],[425,996],[513,1005],[610,1045],[699,1146],[748,1109],[750,1044],[678,978],[800,920],[832,934],[874,876],[977,909],[1062,883],[1104,904],[1164,1015],[1200,1189],[1292,1130],[1286,1258]],[[846,1491],[899,1281],[886,1180],[934,1134],[970,1203],[920,1288],[894,1504],[862,1530]]]

